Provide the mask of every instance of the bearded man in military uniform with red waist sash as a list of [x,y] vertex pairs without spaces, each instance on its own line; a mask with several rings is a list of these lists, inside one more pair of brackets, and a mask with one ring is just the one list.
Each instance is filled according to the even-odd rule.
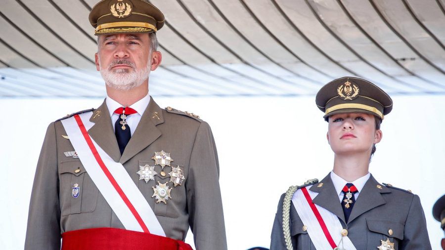
[[102,0],[89,21],[107,97],[48,126],[25,249],[186,250],[190,227],[197,249],[225,250],[210,126],[148,94],[164,15],[144,0]]

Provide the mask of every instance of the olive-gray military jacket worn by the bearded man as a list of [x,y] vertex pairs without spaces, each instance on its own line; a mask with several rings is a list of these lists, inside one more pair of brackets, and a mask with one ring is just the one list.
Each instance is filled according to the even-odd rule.
[[[166,236],[184,240],[190,227],[198,250],[227,249],[218,155],[210,126],[184,112],[161,109],[151,98],[121,156],[109,114],[105,102],[93,111],[89,135],[114,161],[123,164]],[[66,132],[60,121],[48,126],[34,179],[25,249],[59,250],[61,234],[67,231],[124,228],[81,161],[65,156],[64,152],[74,148],[62,135]],[[166,176],[157,174],[148,183],[139,180],[139,166],[154,166],[151,158],[161,150],[170,153],[172,166],[183,168],[182,185],[174,187],[169,182],[168,166],[164,167]],[[160,173],[161,166],[155,166],[155,171]],[[172,188],[167,204],[152,198],[152,187],[158,181],[169,182]],[[80,187],[76,199],[72,195],[74,184]]]

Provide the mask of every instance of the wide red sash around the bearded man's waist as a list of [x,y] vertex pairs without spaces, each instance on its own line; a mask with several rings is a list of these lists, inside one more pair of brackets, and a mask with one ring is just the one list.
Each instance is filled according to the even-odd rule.
[[118,228],[89,228],[62,234],[62,250],[193,250],[167,237]]

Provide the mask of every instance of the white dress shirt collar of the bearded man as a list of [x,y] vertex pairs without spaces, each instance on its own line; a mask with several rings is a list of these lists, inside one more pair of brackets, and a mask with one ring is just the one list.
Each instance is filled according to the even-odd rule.
[[[150,95],[147,94],[139,101],[135,102],[133,105],[130,106],[130,108],[134,109],[137,113],[133,115],[127,116],[127,125],[130,126],[130,132],[133,136],[134,130],[136,130],[137,125],[139,124],[140,118],[142,117],[142,114],[144,113],[145,109],[148,107],[148,103],[150,102]],[[111,99],[108,95],[105,100],[105,103],[107,104],[108,111],[110,112],[111,117],[111,123],[113,128],[116,121],[119,119],[119,115],[115,114],[114,111],[118,108],[123,107],[121,104],[119,104],[117,101]]]

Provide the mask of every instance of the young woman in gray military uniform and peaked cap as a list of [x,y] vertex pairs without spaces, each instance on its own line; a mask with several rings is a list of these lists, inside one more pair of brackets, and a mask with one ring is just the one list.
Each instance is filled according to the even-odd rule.
[[324,85],[315,102],[328,122],[334,167],[281,196],[270,250],[431,250],[419,197],[368,171],[391,98],[373,83],[345,77]]

